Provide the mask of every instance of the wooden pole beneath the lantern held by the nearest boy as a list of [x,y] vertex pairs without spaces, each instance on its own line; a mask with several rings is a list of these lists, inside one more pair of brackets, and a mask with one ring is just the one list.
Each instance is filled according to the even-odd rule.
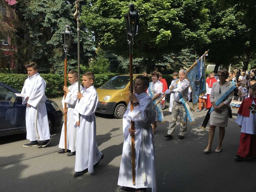
[[[130,92],[133,93],[133,41],[129,41],[130,45]],[[133,102],[130,102],[131,111],[133,110]],[[134,130],[134,122],[131,120],[131,129]],[[133,185],[135,185],[135,144],[134,144],[134,135],[132,139],[132,178]]]

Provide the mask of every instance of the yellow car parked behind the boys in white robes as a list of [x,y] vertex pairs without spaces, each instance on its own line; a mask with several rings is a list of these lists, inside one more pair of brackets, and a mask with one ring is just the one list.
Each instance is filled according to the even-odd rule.
[[[138,75],[141,74],[133,74],[133,83]],[[99,96],[96,113],[113,114],[117,119],[122,118],[130,101],[130,75],[115,76],[96,90]]]

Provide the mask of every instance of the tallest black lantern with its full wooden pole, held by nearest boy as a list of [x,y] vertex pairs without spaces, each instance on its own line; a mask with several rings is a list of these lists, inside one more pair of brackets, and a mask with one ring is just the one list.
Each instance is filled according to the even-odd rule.
[[[126,38],[130,45],[130,92],[133,93],[133,40],[139,30],[139,11],[134,11],[134,4],[129,4],[130,11],[124,14],[126,24]],[[133,102],[130,102],[131,111],[133,110]],[[134,122],[131,121],[131,129],[134,130]],[[135,145],[134,135],[132,136],[132,181],[135,185]]]

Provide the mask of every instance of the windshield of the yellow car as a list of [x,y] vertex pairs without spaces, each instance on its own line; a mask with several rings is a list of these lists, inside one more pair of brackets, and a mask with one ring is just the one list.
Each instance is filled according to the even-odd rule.
[[123,89],[129,83],[129,76],[115,76],[112,79],[108,80],[101,88],[105,89]]

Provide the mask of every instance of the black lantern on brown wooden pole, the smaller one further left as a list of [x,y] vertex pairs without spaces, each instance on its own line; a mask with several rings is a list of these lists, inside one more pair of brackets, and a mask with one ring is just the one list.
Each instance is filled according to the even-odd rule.
[[[64,60],[64,86],[66,85],[67,81],[67,53],[69,50],[69,47],[71,45],[71,39],[72,39],[72,31],[69,31],[69,26],[65,26],[65,31],[63,31],[62,34],[62,45],[65,53],[65,60]],[[64,98],[66,98],[66,92],[64,92]],[[66,110],[66,103],[64,104],[64,110]],[[64,113],[64,143],[65,143],[65,152],[67,151],[67,143],[66,143],[66,122],[67,122],[67,114]]]

